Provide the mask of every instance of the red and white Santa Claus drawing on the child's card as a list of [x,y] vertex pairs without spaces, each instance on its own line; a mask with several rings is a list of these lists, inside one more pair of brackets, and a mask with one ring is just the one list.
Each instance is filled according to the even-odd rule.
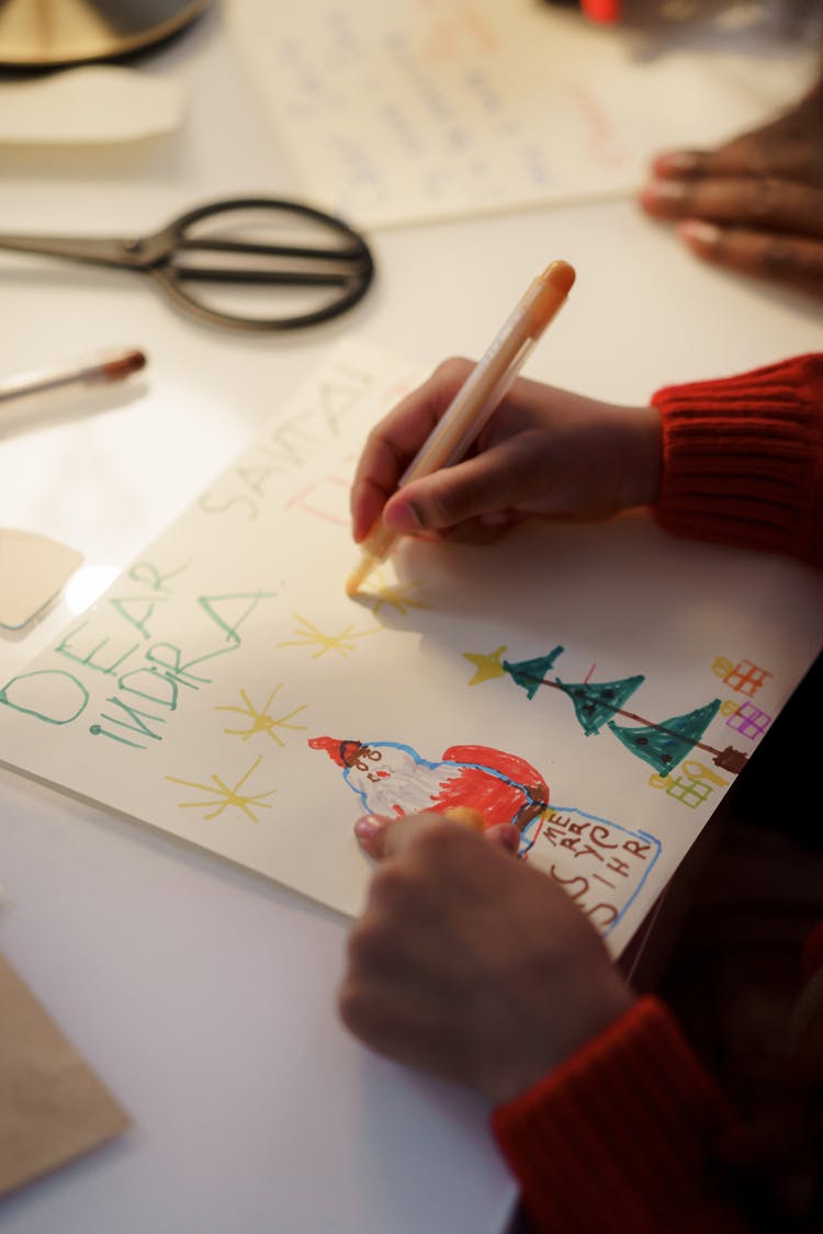
[[464,806],[487,827],[515,823],[523,832],[549,801],[548,785],[526,759],[485,745],[452,745],[436,763],[401,742],[312,737],[308,745],[342,768],[366,813],[391,818]]

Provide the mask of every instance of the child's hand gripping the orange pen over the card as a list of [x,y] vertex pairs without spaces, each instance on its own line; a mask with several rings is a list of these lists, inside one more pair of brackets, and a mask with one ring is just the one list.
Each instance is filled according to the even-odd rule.
[[352,487],[357,542],[381,516],[400,534],[476,542],[531,515],[607,518],[655,500],[661,442],[653,407],[618,407],[523,378],[464,460],[395,491],[471,368],[445,360],[373,429]]

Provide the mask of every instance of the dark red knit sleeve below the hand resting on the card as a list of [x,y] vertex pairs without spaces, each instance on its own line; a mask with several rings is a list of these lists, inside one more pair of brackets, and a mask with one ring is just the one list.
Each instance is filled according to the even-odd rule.
[[740,1234],[714,1171],[737,1140],[723,1097],[651,996],[491,1125],[537,1234]]

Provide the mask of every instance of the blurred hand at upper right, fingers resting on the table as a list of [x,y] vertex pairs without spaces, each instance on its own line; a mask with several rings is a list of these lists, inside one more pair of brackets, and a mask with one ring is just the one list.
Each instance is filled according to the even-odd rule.
[[659,154],[639,204],[714,265],[823,300],[823,77],[763,127]]

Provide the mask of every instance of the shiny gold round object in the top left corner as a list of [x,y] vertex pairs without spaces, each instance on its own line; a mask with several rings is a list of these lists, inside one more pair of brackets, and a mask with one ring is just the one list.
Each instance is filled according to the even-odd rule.
[[0,0],[0,65],[53,68],[138,52],[211,0]]

